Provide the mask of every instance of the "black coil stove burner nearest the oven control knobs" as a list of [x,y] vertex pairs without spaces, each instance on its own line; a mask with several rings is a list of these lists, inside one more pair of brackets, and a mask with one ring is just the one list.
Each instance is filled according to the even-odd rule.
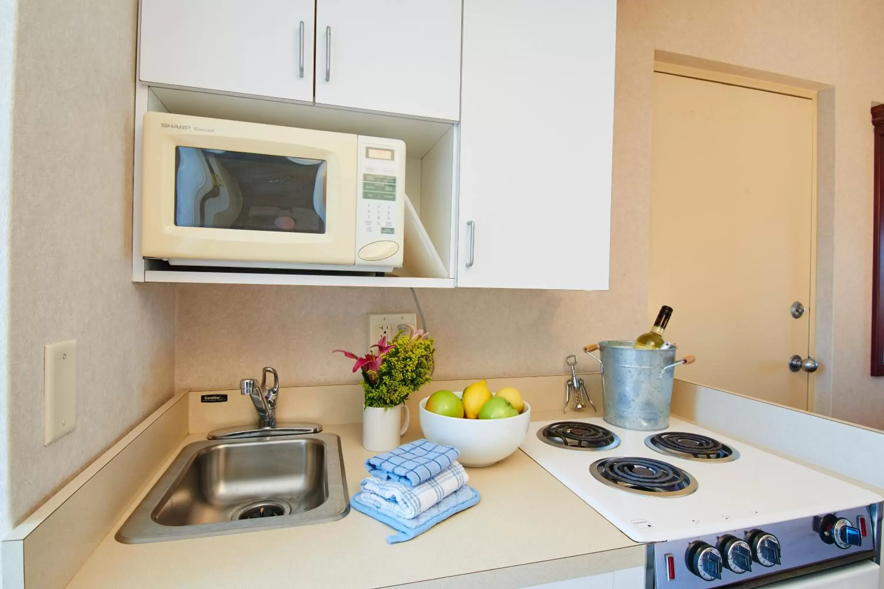
[[590,473],[608,487],[654,497],[683,497],[697,490],[697,480],[672,464],[653,458],[603,458]]

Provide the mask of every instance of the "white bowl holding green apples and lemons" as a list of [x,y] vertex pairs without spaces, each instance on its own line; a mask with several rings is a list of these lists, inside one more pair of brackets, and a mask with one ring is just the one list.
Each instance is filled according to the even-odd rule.
[[[455,391],[462,396],[462,391]],[[438,415],[426,410],[421,400],[420,416],[423,437],[431,442],[461,450],[458,461],[464,466],[490,466],[512,454],[525,439],[531,421],[531,406],[525,404],[515,417],[503,419],[462,419]]]

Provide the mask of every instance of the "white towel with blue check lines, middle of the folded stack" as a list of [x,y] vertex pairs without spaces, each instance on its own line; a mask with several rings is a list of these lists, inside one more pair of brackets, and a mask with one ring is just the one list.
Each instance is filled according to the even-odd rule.
[[411,519],[463,487],[467,480],[469,476],[463,466],[454,461],[444,471],[417,487],[406,487],[377,477],[363,479],[360,487],[366,491],[362,495],[363,502],[378,509],[385,508],[398,517]]

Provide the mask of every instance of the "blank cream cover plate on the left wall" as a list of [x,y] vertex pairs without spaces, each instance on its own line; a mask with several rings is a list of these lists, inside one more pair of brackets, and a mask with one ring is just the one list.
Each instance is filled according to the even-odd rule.
[[77,340],[49,344],[43,356],[43,445],[77,427]]

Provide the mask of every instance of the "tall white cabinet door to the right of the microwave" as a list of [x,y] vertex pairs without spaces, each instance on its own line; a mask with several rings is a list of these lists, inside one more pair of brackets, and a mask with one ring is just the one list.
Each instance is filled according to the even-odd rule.
[[606,290],[615,0],[464,0],[458,286]]

